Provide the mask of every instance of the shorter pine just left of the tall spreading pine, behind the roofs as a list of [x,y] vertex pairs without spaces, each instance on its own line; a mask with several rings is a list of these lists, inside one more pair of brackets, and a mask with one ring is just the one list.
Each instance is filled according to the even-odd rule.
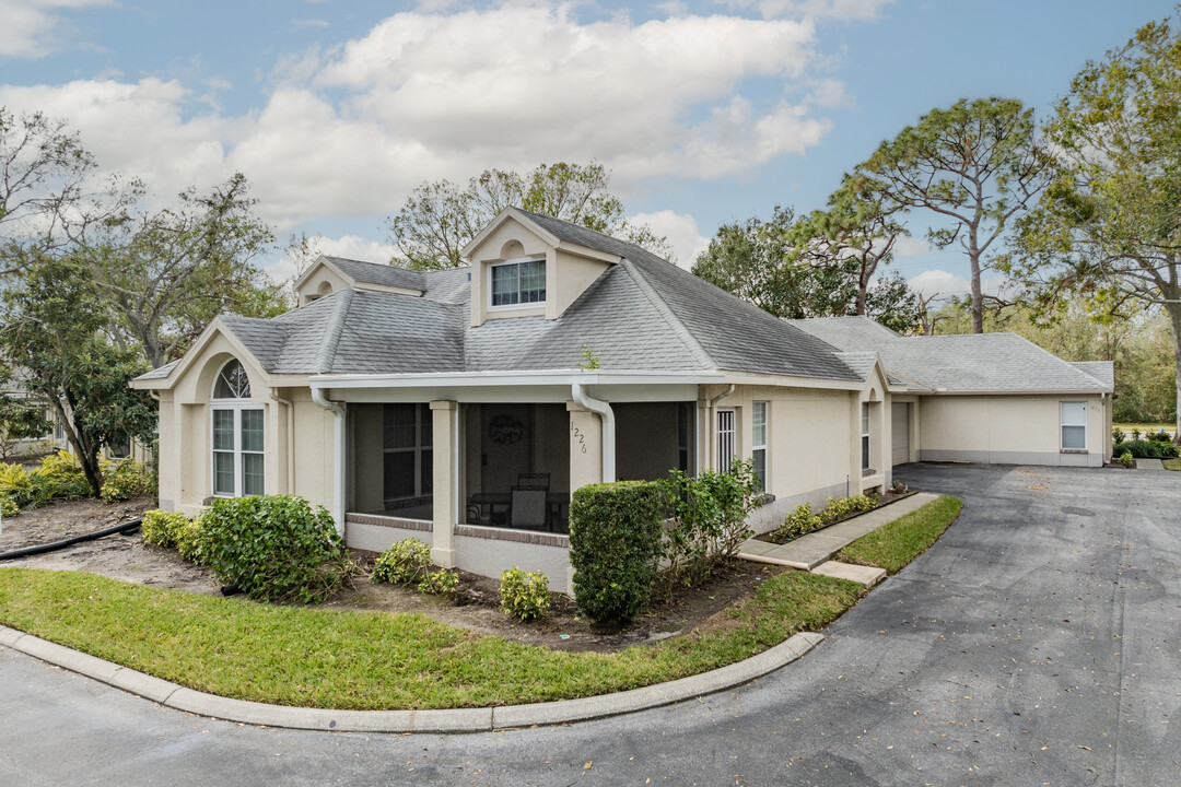
[[902,205],[880,181],[848,175],[828,205],[828,210],[813,211],[791,227],[790,254],[811,268],[852,275],[856,283],[854,314],[864,316],[874,274],[879,265],[889,263],[898,238],[908,235],[898,222]]

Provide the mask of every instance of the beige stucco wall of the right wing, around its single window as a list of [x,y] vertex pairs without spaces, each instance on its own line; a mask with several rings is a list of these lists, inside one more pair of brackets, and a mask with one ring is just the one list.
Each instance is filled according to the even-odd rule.
[[[1100,466],[1110,454],[1109,401],[1090,395],[922,396],[924,461]],[[1063,453],[1059,402],[1087,402],[1087,453]]]

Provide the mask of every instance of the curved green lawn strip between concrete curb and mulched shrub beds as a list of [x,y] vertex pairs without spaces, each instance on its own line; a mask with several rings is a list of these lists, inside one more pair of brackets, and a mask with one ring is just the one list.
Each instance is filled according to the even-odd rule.
[[856,583],[781,573],[684,636],[616,654],[482,636],[423,615],[274,606],[72,571],[0,569],[0,622],[201,691],[339,709],[568,700],[740,661],[856,603]]

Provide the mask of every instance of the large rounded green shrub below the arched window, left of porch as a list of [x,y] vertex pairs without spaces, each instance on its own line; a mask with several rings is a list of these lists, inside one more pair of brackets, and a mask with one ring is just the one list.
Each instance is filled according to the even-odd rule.
[[332,516],[292,494],[218,498],[202,517],[197,545],[221,582],[256,599],[320,602],[350,571]]

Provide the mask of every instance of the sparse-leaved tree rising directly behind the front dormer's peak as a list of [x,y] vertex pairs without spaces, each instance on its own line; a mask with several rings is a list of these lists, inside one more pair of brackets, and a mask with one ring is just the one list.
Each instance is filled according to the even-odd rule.
[[423,183],[393,216],[387,237],[398,248],[394,261],[433,270],[463,264],[463,248],[498,212],[510,205],[546,214],[632,241],[668,256],[665,238],[624,217],[624,203],[607,189],[611,176],[601,164],[541,164],[524,175],[484,170],[463,188],[450,181]]

